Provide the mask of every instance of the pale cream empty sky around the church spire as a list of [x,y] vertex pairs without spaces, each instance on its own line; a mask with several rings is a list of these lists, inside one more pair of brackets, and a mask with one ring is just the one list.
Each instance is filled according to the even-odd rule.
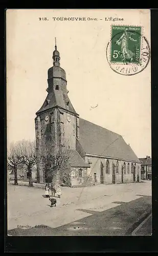
[[[86,20],[54,21],[53,17]],[[105,17],[124,20],[113,22]],[[35,139],[35,113],[47,96],[47,72],[53,66],[56,37],[60,66],[66,72],[68,95],[76,112],[122,135],[139,158],[151,156],[150,62],[133,76],[114,72],[106,59],[111,25],[142,26],[150,44],[149,10],[7,10],[8,145]]]

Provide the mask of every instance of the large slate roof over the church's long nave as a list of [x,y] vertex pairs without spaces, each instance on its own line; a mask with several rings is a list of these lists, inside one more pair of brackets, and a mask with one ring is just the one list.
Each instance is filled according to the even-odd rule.
[[80,118],[80,144],[87,154],[139,162],[121,135]]

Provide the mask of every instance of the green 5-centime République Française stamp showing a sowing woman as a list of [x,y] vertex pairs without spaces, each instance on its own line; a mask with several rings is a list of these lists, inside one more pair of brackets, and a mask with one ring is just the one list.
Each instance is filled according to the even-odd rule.
[[141,27],[112,26],[110,62],[140,63]]

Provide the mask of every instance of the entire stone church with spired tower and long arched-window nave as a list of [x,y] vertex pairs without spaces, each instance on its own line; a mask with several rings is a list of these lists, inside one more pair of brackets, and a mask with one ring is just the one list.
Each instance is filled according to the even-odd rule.
[[[80,118],[68,96],[66,73],[55,44],[53,67],[48,70],[48,95],[36,112],[36,155],[49,136],[57,147],[68,145],[71,186],[139,182],[141,163],[121,135]],[[64,173],[66,176],[67,173]],[[59,177],[59,184],[63,182]],[[50,182],[37,160],[37,182]]]

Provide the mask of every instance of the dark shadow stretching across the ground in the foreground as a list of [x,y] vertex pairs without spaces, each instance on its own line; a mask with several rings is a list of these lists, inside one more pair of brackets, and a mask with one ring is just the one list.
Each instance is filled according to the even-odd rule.
[[[28,229],[17,227],[8,230],[8,236],[130,236],[151,213],[151,196],[139,196],[141,198],[127,203],[114,202],[120,205],[104,211],[77,209],[91,216],[57,228],[43,224]],[[147,229],[151,230],[151,227]],[[150,236],[151,233],[144,235]]]

